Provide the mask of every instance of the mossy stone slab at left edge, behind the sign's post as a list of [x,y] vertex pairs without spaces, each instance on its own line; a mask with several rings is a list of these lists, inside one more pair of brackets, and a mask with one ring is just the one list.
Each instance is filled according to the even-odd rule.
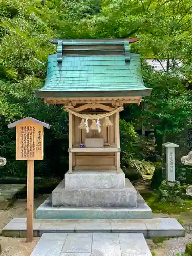
[[16,193],[25,186],[25,184],[0,184],[0,210],[4,210],[13,204],[16,200]]

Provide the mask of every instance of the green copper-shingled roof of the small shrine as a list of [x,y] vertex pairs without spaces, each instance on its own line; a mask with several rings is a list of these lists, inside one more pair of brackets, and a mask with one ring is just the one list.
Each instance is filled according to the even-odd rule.
[[[140,55],[130,53],[129,41],[103,44],[107,46],[103,48],[102,41],[75,44],[73,40],[66,42],[67,48],[65,42],[58,41],[57,53],[48,57],[45,85],[36,90],[36,96],[79,97],[91,96],[93,92],[100,96],[102,93],[115,96],[120,92],[124,96],[150,95],[151,89],[143,83]],[[80,47],[75,48],[76,45]]]

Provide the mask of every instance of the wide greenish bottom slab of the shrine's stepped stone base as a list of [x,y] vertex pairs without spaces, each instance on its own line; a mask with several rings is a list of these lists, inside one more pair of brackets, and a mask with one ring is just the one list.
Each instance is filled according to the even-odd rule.
[[36,210],[40,219],[150,219],[152,210],[137,192],[137,207],[53,207],[51,197]]

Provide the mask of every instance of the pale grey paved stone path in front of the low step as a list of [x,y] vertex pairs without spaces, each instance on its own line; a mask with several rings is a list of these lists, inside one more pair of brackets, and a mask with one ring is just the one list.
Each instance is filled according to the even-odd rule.
[[140,233],[45,233],[31,256],[151,256]]

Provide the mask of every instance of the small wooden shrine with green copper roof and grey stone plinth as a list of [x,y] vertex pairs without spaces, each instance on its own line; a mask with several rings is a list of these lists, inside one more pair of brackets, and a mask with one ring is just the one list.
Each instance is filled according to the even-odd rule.
[[[119,112],[127,104],[139,105],[142,97],[151,94],[143,83],[140,55],[130,52],[130,43],[136,40],[52,41],[57,53],[49,55],[45,85],[35,94],[47,104],[60,104],[69,114],[69,170],[54,190],[57,193],[52,193],[53,206],[129,205],[120,168]],[[121,190],[117,201],[115,188]],[[66,201],[66,189],[84,189],[85,194],[73,193]],[[98,189],[111,189],[112,194]],[[136,206],[136,197],[131,206]]]

